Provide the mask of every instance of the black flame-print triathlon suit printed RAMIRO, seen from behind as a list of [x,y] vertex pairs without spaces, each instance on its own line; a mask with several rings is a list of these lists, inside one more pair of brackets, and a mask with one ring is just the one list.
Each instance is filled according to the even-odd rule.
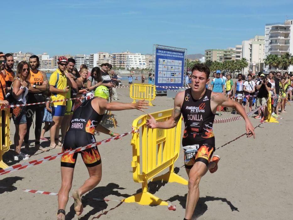
[[[86,100],[74,111],[69,129],[65,135],[62,152],[96,142],[95,128],[100,123],[103,115],[94,110],[91,105],[92,100]],[[100,153],[96,146],[78,153],[81,153],[81,157],[87,167],[94,167],[101,163]],[[74,168],[78,153],[62,156],[61,166]]]

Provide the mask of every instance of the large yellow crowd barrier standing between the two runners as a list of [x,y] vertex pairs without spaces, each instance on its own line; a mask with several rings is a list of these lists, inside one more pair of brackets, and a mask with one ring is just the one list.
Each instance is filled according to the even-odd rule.
[[[173,109],[151,113],[157,121],[166,121],[171,117]],[[132,195],[124,202],[136,202],[140,205],[168,205],[167,202],[148,192],[148,180],[177,182],[184,185],[188,184],[174,173],[174,162],[179,157],[181,140],[181,123],[178,121],[176,127],[172,129],[148,129],[146,126],[147,114],[136,118],[133,127],[139,128],[139,133],[134,133],[131,139],[133,159],[133,180],[142,183],[142,192]],[[154,179],[155,175],[169,167],[169,172]]]

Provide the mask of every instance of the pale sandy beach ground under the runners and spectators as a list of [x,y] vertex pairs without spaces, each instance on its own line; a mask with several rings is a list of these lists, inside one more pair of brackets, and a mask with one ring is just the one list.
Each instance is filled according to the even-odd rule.
[[[133,81],[134,82],[134,81]],[[127,81],[123,81],[128,85]],[[132,102],[129,88],[118,88],[118,102]],[[146,113],[173,108],[174,100],[166,96],[156,96]],[[292,104],[291,104],[292,105]],[[290,219],[293,213],[293,173],[290,166],[293,159],[292,123],[293,106],[286,105],[287,113],[282,113],[279,123],[260,124],[252,117],[256,139],[243,136],[230,144],[225,143],[244,134],[243,120],[214,124],[216,138],[215,153],[221,156],[216,173],[207,173],[200,182],[200,198],[193,219]],[[117,128],[110,121],[106,127],[117,133],[131,131],[135,118],[144,114],[138,110],[112,112],[117,120]],[[235,115],[223,112],[221,117]],[[183,131],[183,126],[182,126]],[[11,120],[10,137],[13,140],[15,127]],[[45,137],[49,137],[46,132]],[[109,135],[96,135],[97,141]],[[133,181],[131,160],[131,135],[122,140],[113,140],[99,146],[103,174],[100,184],[83,198],[107,198],[122,200],[141,190],[141,184]],[[34,146],[34,129],[30,129],[30,144]],[[41,146],[49,146],[42,142]],[[222,146],[222,147],[221,147]],[[12,146],[13,147],[13,146]],[[24,148],[24,147],[23,147]],[[22,149],[23,150],[23,149]],[[40,159],[61,152],[53,149],[37,151],[30,160]],[[12,152],[4,155],[4,161],[13,165]],[[72,190],[77,189],[88,178],[87,169],[78,156],[74,170]],[[183,166],[183,153],[175,162],[175,171],[187,179]],[[167,170],[163,171],[166,173]],[[58,193],[61,184],[60,158],[40,165],[0,176],[0,219],[57,219],[56,195],[41,195],[23,192],[25,189]],[[7,187],[7,188],[4,188]],[[119,201],[83,200],[84,212],[77,217],[73,210],[73,199],[66,207],[66,219],[183,219],[187,186],[176,183],[149,182],[149,192],[162,200],[176,205],[176,211],[167,206],[141,206],[136,203]]]

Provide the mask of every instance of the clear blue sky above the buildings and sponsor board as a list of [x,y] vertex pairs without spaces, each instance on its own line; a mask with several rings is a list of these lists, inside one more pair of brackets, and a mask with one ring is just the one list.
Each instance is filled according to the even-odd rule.
[[145,54],[161,44],[204,53],[264,35],[266,23],[293,19],[292,8],[292,0],[5,1],[0,51]]

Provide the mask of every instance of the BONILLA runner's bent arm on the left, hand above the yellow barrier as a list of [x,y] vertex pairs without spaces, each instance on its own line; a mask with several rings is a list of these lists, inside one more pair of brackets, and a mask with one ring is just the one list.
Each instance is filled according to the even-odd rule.
[[182,106],[182,100],[184,98],[185,91],[182,91],[178,93],[175,96],[174,99],[174,109],[172,111],[171,117],[164,122],[157,122],[153,116],[150,114],[149,117],[150,119],[147,119],[146,125],[148,128],[161,128],[161,129],[169,129],[169,128],[174,128],[178,121],[181,120],[181,106]]

